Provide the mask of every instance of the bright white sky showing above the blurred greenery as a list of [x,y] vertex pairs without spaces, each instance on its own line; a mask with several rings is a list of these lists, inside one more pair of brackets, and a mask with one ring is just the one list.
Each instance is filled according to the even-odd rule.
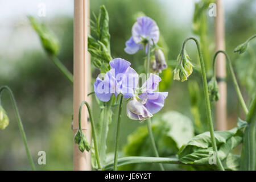
[[[166,8],[163,11],[168,11],[177,23],[191,22],[193,4],[196,0],[158,1]],[[224,0],[225,10],[232,11],[238,1],[242,0]],[[46,5],[46,19],[56,15],[73,16],[73,0],[0,0],[0,59],[5,59],[6,56],[19,56],[19,53],[23,53],[29,47],[40,47],[35,32],[28,26],[26,15],[36,16],[41,3]]]

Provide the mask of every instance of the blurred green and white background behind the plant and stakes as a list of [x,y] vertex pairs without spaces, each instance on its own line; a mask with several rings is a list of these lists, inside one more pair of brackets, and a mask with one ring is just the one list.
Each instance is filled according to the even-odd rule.
[[[131,27],[138,14],[144,13],[154,19],[166,44],[166,58],[170,72],[174,69],[173,61],[179,54],[183,40],[195,36],[192,31],[193,12],[197,1],[167,0],[98,0],[90,1],[91,13],[98,13],[100,5],[105,5],[110,16],[111,49],[113,57],[123,57],[132,63],[137,71],[143,69],[143,51],[136,55],[127,55],[123,48],[130,38]],[[46,16],[38,16],[40,4],[46,5]],[[256,56],[255,43],[242,56],[233,53],[233,49],[256,32],[256,1],[225,0],[225,36],[226,51],[235,65],[242,93],[249,103],[255,90]],[[59,59],[67,68],[73,68],[73,1],[45,0],[15,1],[0,0],[0,86],[9,85],[13,90],[28,145],[36,168],[41,170],[72,169],[73,133],[72,122],[72,85],[59,73],[44,52],[38,35],[28,22],[27,15],[35,16],[47,24],[60,41]],[[214,51],[214,19],[207,16],[207,37],[210,57]],[[194,63],[198,63],[196,48],[192,43],[187,46]],[[93,79],[97,71],[92,67]],[[208,75],[211,72],[208,70]],[[170,76],[171,77],[171,76]],[[199,72],[191,76],[201,86]],[[194,120],[189,102],[188,82],[166,80],[162,90],[169,96],[166,105],[160,111],[179,111]],[[236,125],[237,117],[244,118],[238,104],[232,80],[227,76],[228,84],[228,121],[229,129]],[[94,100],[93,100],[94,102]],[[2,96],[2,105],[10,118],[10,125],[0,130],[0,170],[30,169],[26,152],[20,137],[13,107],[7,93]],[[204,121],[204,105],[200,106],[201,120]],[[95,118],[98,118],[97,104],[93,105]],[[213,107],[214,112],[214,107]],[[114,115],[114,118],[116,115]],[[144,123],[130,121],[123,110],[121,147],[127,143],[127,136]],[[114,122],[110,125],[108,152],[114,149]],[[46,151],[47,164],[37,164],[38,151]],[[153,168],[152,168],[153,169]]]

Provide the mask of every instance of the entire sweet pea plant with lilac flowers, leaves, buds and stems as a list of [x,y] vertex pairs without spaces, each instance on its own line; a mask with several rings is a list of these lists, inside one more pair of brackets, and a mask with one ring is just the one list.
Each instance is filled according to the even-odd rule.
[[[55,36],[49,28],[39,23],[32,16],[29,16],[28,19],[34,30],[38,33],[42,46],[51,61],[72,84],[72,73],[57,59],[59,42]],[[198,17],[195,16],[194,19],[198,20]],[[197,23],[197,25],[200,25],[200,23]],[[255,170],[256,98],[254,96],[250,106],[246,106],[228,53],[222,50],[214,53],[213,76],[209,82],[207,81],[204,61],[204,57],[209,56],[203,55],[199,40],[194,37],[185,39],[181,46],[181,51],[177,55],[173,71],[174,80],[189,82],[188,78],[192,75],[193,69],[197,69],[203,82],[203,100],[207,115],[206,125],[208,131],[201,132],[202,129],[197,127],[198,134],[194,136],[191,122],[186,116],[176,111],[167,111],[167,113],[161,116],[157,114],[164,107],[166,98],[173,97],[171,93],[159,92],[158,89],[159,82],[162,81],[159,73],[166,70],[169,71],[164,48],[158,44],[161,36],[158,24],[148,16],[138,17],[133,27],[131,27],[130,39],[124,43],[124,51],[127,54],[135,54],[139,51],[144,53],[144,57],[141,57],[141,60],[145,60],[142,63],[144,70],[141,72],[135,71],[130,61],[112,56],[109,15],[105,6],[100,7],[98,15],[93,14],[90,28],[92,35],[88,36],[88,51],[92,56],[93,67],[99,70],[100,75],[98,75],[93,83],[93,92],[88,95],[95,96],[97,105],[100,108],[100,117],[97,118],[98,121],[96,122],[90,105],[88,102],[83,101],[79,110],[79,129],[74,140],[81,152],[85,150],[92,151],[92,167],[94,170],[118,170],[125,169],[122,167],[127,164],[146,163],[158,163],[158,167],[161,170],[166,169],[166,164],[176,164],[180,169]],[[195,26],[194,28],[198,29]],[[239,54],[245,52],[249,42],[255,37],[256,35],[251,36],[234,49],[234,52]],[[196,63],[192,63],[189,53],[186,51],[185,45],[189,41],[194,42],[197,48],[200,60],[199,68],[196,68]],[[206,40],[203,40],[204,44],[205,42]],[[220,99],[215,74],[216,57],[219,53],[224,54],[226,57],[238,100],[246,115],[245,121],[238,118],[237,126],[227,131],[214,131],[211,111],[213,102]],[[2,96],[4,90],[10,94],[31,168],[35,169],[14,95],[8,86],[2,86],[0,88],[0,96]],[[196,82],[189,82],[189,93],[192,97],[192,111],[198,113],[198,111],[195,111],[199,98],[199,87]],[[92,124],[92,142],[86,138],[81,127],[81,110],[84,105],[88,109],[89,119]],[[113,108],[116,106],[118,107],[117,113],[115,113],[117,121],[114,121]],[[129,119],[141,123],[146,122],[146,127],[139,127],[135,133],[129,135],[129,143],[124,149],[125,155],[118,158],[120,154],[118,151],[119,138],[123,130],[122,107],[126,107],[126,115]],[[167,122],[170,118],[172,118],[172,121]],[[196,119],[195,125],[201,126],[200,118]],[[110,123],[116,125],[113,159],[109,159],[106,154],[106,140]],[[9,118],[0,102],[0,129],[6,129],[8,124]],[[177,135],[177,133],[181,133],[181,135]],[[158,138],[159,144],[158,142],[156,143],[156,138]],[[173,143],[175,143],[175,148],[170,147]],[[241,143],[241,155],[233,154],[233,149]],[[148,144],[148,151],[151,152],[150,154],[153,154],[152,156],[141,155],[142,150],[139,147],[143,144]],[[133,169],[139,168],[134,167]]]

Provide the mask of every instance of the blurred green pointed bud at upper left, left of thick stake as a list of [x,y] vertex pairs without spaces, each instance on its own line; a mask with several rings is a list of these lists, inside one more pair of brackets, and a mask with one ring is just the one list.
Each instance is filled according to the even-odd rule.
[[59,53],[60,44],[53,32],[49,30],[45,24],[39,23],[34,17],[28,16],[28,19],[30,20],[34,30],[38,33],[45,51],[49,55],[57,55]]

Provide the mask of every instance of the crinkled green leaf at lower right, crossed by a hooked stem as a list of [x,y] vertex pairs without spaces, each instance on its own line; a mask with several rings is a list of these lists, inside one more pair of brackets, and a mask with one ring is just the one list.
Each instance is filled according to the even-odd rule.
[[[236,127],[228,131],[215,131],[214,137],[218,148],[218,155],[224,160],[231,150],[242,142],[242,127]],[[205,132],[193,137],[178,152],[179,160],[185,164],[209,164],[213,151],[210,133]]]

